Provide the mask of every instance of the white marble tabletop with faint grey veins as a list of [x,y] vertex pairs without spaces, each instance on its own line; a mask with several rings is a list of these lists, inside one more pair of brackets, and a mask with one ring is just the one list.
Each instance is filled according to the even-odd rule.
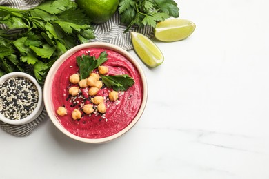
[[79,143],[49,119],[30,136],[0,130],[0,178],[269,178],[269,1],[179,1],[194,34],[157,42],[148,104],[126,135]]

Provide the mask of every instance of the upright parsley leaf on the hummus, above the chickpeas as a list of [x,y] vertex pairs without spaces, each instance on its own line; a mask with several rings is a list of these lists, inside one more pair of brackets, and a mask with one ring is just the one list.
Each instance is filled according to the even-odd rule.
[[106,58],[107,56],[108,54],[106,51],[101,52],[97,59],[95,56],[90,56],[90,54],[82,54],[82,56],[77,56],[77,65],[79,66],[80,78],[87,78],[92,70],[108,60]]

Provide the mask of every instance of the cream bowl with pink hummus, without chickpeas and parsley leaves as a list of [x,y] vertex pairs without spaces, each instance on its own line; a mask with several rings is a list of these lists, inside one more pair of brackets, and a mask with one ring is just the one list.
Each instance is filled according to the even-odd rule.
[[[103,83],[94,95],[102,96],[106,107],[106,112],[99,112],[97,105],[92,103],[94,96],[88,94],[90,87],[71,83],[70,76],[79,74],[77,56],[89,54],[98,58],[104,51],[107,61],[102,66],[108,68],[106,76],[128,74],[135,83],[125,91],[117,90],[116,101],[109,98],[112,87]],[[98,69],[92,72],[98,74]],[[79,93],[70,95],[70,87],[79,88]],[[43,93],[48,116],[63,134],[86,143],[105,143],[125,134],[137,123],[146,107],[148,87],[141,66],[126,50],[109,43],[94,42],[78,45],[63,54],[50,68]],[[94,112],[91,114],[83,112],[83,105],[87,104],[93,106]],[[57,114],[59,107],[66,109],[65,115]],[[75,109],[79,110],[81,118],[74,120],[72,112]]]

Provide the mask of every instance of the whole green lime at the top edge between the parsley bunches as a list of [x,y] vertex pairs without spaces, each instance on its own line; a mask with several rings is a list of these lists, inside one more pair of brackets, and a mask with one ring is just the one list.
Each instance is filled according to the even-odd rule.
[[93,23],[108,21],[119,5],[119,0],[77,0],[79,8],[86,11]]

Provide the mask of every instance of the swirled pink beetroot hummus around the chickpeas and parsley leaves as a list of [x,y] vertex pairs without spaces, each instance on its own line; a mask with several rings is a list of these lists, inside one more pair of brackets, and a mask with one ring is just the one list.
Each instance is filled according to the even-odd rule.
[[[127,91],[118,92],[117,101],[110,101],[108,94],[112,88],[103,86],[99,89],[96,96],[103,96],[103,103],[106,105],[106,112],[99,113],[94,108],[92,114],[85,114],[82,111],[83,105],[92,104],[88,94],[89,87],[80,88],[77,96],[70,96],[68,89],[74,85],[70,83],[70,76],[79,73],[76,57],[82,54],[99,57],[99,54],[106,51],[108,60],[102,65],[108,67],[106,75],[128,74],[135,81]],[[97,72],[97,70],[94,70]],[[97,72],[98,73],[98,72]],[[117,134],[119,131],[128,126],[137,115],[143,98],[143,86],[141,76],[137,68],[126,59],[125,56],[106,48],[86,48],[72,54],[66,61],[61,64],[57,70],[52,83],[52,101],[55,113],[58,107],[65,107],[67,114],[59,116],[59,122],[70,133],[83,138],[105,138]],[[81,118],[74,120],[72,111],[79,109]]]

